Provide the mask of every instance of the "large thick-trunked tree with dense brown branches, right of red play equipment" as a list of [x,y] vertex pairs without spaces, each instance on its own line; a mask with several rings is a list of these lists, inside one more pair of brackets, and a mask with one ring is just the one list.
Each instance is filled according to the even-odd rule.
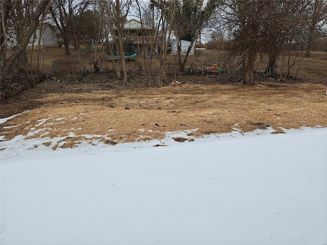
[[271,75],[284,47],[308,23],[308,0],[231,0],[221,8],[233,33],[233,52],[242,57],[244,84],[254,85],[255,60],[268,54],[266,73]]

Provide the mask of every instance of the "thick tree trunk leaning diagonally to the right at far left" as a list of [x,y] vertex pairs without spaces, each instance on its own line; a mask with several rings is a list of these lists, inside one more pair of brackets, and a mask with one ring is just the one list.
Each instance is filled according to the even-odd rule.
[[26,31],[25,35],[22,37],[19,44],[14,48],[11,56],[6,60],[2,69],[1,69],[1,81],[3,78],[9,75],[11,67],[15,63],[15,61],[19,58],[19,56],[24,52],[26,46],[28,45],[32,34],[35,32],[37,24],[39,23],[39,17],[48,5],[50,0],[43,0],[40,2],[39,6],[36,8],[35,12],[32,14],[31,24],[29,29]]

